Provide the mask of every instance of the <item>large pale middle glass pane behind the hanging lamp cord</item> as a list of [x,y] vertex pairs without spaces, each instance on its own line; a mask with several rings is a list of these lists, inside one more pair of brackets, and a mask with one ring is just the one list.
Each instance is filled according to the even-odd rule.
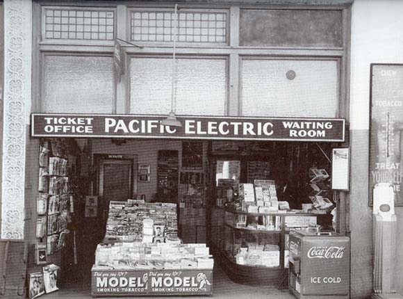
[[[226,60],[181,58],[176,61],[176,114],[224,115]],[[130,90],[130,113],[169,113],[172,58],[132,58]]]

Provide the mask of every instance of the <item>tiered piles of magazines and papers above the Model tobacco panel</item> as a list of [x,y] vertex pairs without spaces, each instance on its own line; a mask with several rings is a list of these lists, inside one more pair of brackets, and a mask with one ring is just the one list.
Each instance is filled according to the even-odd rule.
[[104,243],[97,246],[97,269],[213,268],[206,244],[182,244],[176,204],[141,200],[110,202]]

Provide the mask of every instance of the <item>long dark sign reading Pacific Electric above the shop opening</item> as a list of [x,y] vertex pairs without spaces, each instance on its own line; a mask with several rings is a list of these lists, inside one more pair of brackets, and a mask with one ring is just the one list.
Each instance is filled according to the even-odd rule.
[[340,118],[237,118],[180,116],[182,127],[161,124],[164,115],[31,115],[31,136],[74,138],[176,138],[215,140],[345,140]]

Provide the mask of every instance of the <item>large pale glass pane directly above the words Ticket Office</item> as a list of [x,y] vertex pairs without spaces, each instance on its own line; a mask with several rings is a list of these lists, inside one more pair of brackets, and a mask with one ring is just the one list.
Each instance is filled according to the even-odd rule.
[[112,58],[45,56],[44,112],[112,113],[112,102]]

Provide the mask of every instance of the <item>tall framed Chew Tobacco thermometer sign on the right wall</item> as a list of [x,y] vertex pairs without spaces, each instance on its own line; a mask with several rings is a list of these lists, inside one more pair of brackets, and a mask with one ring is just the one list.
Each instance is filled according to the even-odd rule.
[[403,206],[403,65],[372,64],[370,86],[370,205],[375,184],[389,183]]

